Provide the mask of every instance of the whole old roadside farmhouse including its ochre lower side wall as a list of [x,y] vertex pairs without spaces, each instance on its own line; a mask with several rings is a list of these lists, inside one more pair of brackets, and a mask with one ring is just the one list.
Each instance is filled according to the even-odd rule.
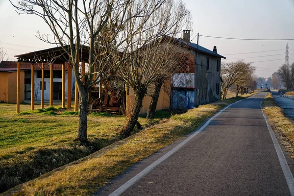
[[[190,30],[184,30],[183,39],[173,39],[179,59],[180,70],[172,74],[160,91],[156,109],[185,109],[221,99],[221,58],[217,47],[206,49],[190,42]],[[152,91],[150,87],[149,91]],[[131,108],[135,95],[132,89],[127,92],[127,108]],[[147,113],[151,97],[143,101],[141,114]],[[128,110],[127,110],[128,112]]]

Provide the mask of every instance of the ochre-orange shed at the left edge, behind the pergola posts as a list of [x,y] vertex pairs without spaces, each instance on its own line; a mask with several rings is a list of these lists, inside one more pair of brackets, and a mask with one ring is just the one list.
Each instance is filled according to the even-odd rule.
[[[20,102],[24,101],[25,70],[20,71]],[[0,68],[0,101],[16,103],[17,69]]]

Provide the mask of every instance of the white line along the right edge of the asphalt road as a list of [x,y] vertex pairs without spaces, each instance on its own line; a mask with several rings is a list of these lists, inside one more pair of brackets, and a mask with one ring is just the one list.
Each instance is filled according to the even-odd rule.
[[266,123],[268,125],[268,129],[269,129],[269,132],[270,132],[270,137],[271,137],[271,140],[273,142],[273,145],[274,145],[274,148],[277,152],[277,155],[278,155],[278,158],[279,158],[279,161],[280,161],[280,165],[281,165],[281,168],[282,168],[282,171],[284,173],[284,176],[286,178],[286,182],[287,182],[287,185],[288,185],[288,188],[289,188],[289,191],[290,191],[290,194],[291,196],[294,196],[294,177],[293,177],[293,174],[289,168],[289,165],[286,161],[286,158],[285,158],[285,155],[277,141],[277,138],[275,137],[273,131],[271,130],[270,128],[270,125],[268,123],[268,119],[266,117],[266,115],[264,114],[263,110],[262,110],[262,106],[261,106],[261,103],[259,104],[260,107],[261,107],[261,111],[262,111],[262,114],[266,120]]

